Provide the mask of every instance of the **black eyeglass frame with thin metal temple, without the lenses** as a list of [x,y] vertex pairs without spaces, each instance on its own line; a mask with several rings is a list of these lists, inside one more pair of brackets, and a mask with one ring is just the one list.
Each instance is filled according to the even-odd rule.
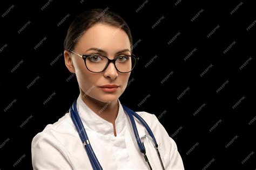
[[[99,55],[99,54],[87,54],[87,55],[85,55],[85,54],[78,54],[78,53],[72,51],[71,49],[68,49],[68,51],[71,52],[71,53],[77,54],[78,56],[82,57],[82,59],[84,60],[85,67],[86,67],[90,72],[92,72],[92,71],[87,67],[87,65],[86,65],[86,58],[87,58],[88,56]],[[99,55],[99,56],[104,56],[104,55]],[[120,72],[120,71],[117,69],[116,60],[118,59],[118,56],[117,56],[116,58],[112,59],[112,60],[109,59],[109,58],[107,58],[107,56],[104,56],[104,57],[107,59],[107,64],[106,64],[105,68],[104,68],[101,72],[104,72],[104,70],[105,70],[107,67],[109,67],[109,63],[110,63],[110,62],[113,62],[114,67],[118,70],[118,72],[120,72],[120,73],[130,73],[130,72],[133,70],[133,68],[136,66],[136,64],[137,64],[137,62],[138,62],[138,60],[139,60],[139,58],[136,57],[133,53],[131,53],[131,55],[123,55],[123,56],[132,56],[132,57],[135,59],[134,66],[132,67],[132,69],[131,69],[129,72]],[[92,73],[101,73],[101,72],[92,72]]]

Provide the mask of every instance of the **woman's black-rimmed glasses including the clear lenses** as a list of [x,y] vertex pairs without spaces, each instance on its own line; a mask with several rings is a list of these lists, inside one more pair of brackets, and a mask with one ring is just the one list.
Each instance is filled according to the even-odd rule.
[[103,72],[107,66],[109,66],[110,62],[114,63],[114,67],[120,73],[129,73],[135,67],[137,61],[139,60],[134,54],[131,55],[119,55],[113,60],[107,58],[104,55],[99,54],[89,54],[89,55],[82,55],[72,50],[68,50],[84,59],[84,63],[86,68],[93,73],[100,73]]

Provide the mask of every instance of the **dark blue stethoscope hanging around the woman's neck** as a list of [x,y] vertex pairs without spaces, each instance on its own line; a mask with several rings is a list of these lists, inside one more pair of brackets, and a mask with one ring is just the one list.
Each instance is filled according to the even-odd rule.
[[[163,161],[161,160],[161,157],[160,157],[160,153],[158,151],[158,144],[157,144],[156,138],[154,138],[154,134],[151,131],[149,125],[147,125],[147,123],[144,121],[144,119],[142,117],[140,117],[136,112],[134,112],[133,110],[127,108],[123,104],[122,104],[122,106],[124,108],[125,113],[129,116],[129,118],[131,120],[132,129],[133,129],[134,135],[136,137],[136,141],[137,141],[137,144],[139,146],[139,150],[140,150],[140,152],[142,152],[142,154],[144,156],[144,159],[147,162],[147,165],[149,165],[149,168],[152,169],[152,167],[150,165],[150,162],[149,162],[149,159],[147,159],[147,155],[146,155],[146,150],[145,150],[144,144],[142,143],[142,141],[139,138],[137,126],[135,124],[133,116],[136,117],[144,125],[144,127],[147,130],[147,132],[149,132],[149,135],[146,134],[144,137],[148,137],[153,142],[154,148],[156,148],[157,155],[158,155],[159,161],[161,163],[161,167],[163,169],[165,169],[164,165],[163,165]],[[72,106],[70,107],[70,115],[71,115],[71,119],[72,119],[73,123],[76,126],[76,129],[77,129],[77,132],[79,134],[79,137],[82,140],[82,143],[83,143],[83,145],[85,147],[85,150],[86,150],[86,153],[87,153],[87,155],[89,157],[89,160],[91,162],[92,168],[93,169],[103,169],[102,166],[99,164],[99,161],[98,161],[95,153],[92,150],[89,138],[87,137],[86,131],[84,129],[84,125],[83,125],[83,123],[82,123],[82,121],[80,119],[80,116],[78,114],[78,111],[77,111],[77,100],[75,102],[73,102]]]

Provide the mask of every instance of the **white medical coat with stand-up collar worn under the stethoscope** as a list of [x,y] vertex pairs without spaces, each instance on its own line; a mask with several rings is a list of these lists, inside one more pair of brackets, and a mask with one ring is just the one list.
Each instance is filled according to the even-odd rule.
[[[113,124],[87,107],[79,95],[78,113],[93,151],[103,169],[149,169],[143,154],[139,151],[130,119],[119,100],[118,103],[115,137]],[[175,141],[169,137],[158,118],[144,111],[137,114],[150,126],[159,145],[165,169],[184,169]],[[144,126],[136,118],[134,120],[139,137],[148,134]],[[157,152],[149,138],[141,140],[144,142],[152,169],[161,169]],[[31,143],[31,153],[33,169],[92,169],[70,112],[56,123],[46,125],[42,132],[36,134]]]

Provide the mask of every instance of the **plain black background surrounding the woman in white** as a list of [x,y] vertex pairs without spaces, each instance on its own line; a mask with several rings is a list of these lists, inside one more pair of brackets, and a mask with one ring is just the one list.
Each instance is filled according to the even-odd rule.
[[[126,20],[133,42],[138,41],[133,53],[140,59],[130,76],[134,81],[120,101],[135,111],[159,116],[176,141],[185,169],[256,168],[253,1],[53,0],[41,10],[47,2],[0,3],[1,170],[32,169],[32,138],[47,124],[58,121],[79,95],[76,77],[66,81],[71,73],[63,55],[52,66],[50,63],[63,53],[68,27],[79,13],[107,7]],[[198,17],[192,19],[197,13]],[[58,26],[67,15],[70,16]],[[217,25],[219,28],[207,37]],[[176,39],[168,44],[174,36]],[[44,37],[42,45],[34,49]],[[185,61],[194,48],[197,51]],[[155,55],[157,58],[145,67]],[[247,64],[239,69],[244,63]],[[18,67],[11,71],[15,66]],[[51,100],[43,104],[52,94]],[[144,98],[146,101],[139,106]],[[205,107],[195,114],[204,103]],[[210,131],[212,127],[215,128]],[[246,159],[248,155],[250,158]],[[211,165],[206,166],[209,162]]]

